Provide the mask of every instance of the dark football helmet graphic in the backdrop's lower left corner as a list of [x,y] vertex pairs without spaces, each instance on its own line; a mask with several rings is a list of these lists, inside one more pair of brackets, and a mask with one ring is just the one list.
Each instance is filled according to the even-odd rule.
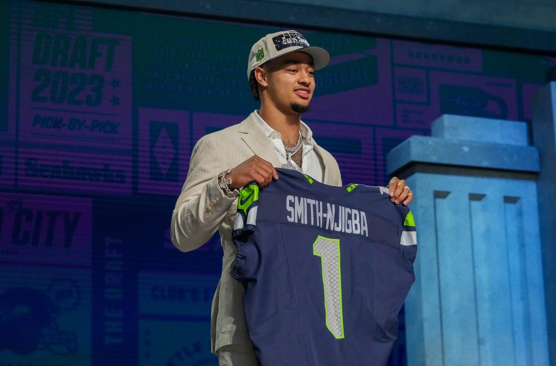
[[17,287],[4,291],[0,294],[0,351],[76,353],[76,335],[58,328],[59,314],[59,307],[41,290]]

